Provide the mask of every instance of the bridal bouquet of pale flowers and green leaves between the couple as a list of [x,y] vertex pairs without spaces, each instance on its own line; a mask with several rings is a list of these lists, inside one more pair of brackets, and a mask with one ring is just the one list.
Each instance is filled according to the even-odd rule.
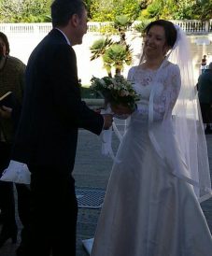
[[106,103],[112,105],[122,105],[134,110],[139,95],[134,91],[132,83],[123,76],[115,76],[114,78],[92,77],[91,89],[99,92],[106,100]]

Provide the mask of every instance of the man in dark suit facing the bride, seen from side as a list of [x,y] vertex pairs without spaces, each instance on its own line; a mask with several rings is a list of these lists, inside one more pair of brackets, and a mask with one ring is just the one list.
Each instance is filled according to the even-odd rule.
[[75,256],[78,203],[74,168],[78,128],[99,135],[112,124],[81,101],[76,54],[87,31],[81,0],[55,0],[53,29],[32,52],[26,67],[21,121],[12,159],[32,173],[32,206],[20,256]]

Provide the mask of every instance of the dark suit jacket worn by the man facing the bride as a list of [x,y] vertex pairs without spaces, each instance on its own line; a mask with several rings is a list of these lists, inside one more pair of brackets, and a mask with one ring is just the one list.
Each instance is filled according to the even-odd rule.
[[12,159],[73,168],[78,128],[99,135],[104,119],[81,101],[75,51],[53,29],[26,68],[21,120]]

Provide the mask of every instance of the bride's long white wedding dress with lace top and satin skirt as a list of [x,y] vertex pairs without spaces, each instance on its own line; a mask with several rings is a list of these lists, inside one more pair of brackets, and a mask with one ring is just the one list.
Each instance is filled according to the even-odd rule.
[[[167,101],[160,100],[164,88],[176,85],[169,94],[175,103],[180,87],[177,66],[168,64],[165,69],[155,92],[155,125],[166,107]],[[156,71],[133,67],[132,72],[141,100],[112,168],[92,256],[210,256],[212,238],[193,187],[174,175],[149,139],[148,100]]]

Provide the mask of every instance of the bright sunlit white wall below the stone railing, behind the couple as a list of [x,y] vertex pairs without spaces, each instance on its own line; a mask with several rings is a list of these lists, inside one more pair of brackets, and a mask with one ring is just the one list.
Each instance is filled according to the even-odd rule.
[[[10,43],[10,55],[20,58],[21,61],[27,64],[27,60],[30,56],[32,50],[39,43],[39,41],[46,36],[46,34],[38,33],[14,33],[7,34]],[[101,59],[90,61],[91,51],[90,47],[92,43],[102,36],[98,36],[92,33],[87,33],[83,37],[82,45],[75,46],[77,59],[78,59],[78,78],[81,78],[82,85],[90,85],[90,80],[92,76],[103,77],[106,76],[106,70],[103,68],[103,63]],[[194,67],[194,78],[197,79],[200,74],[200,62],[203,54],[212,53],[212,37],[207,36],[210,40],[210,44],[206,46],[196,45],[196,38],[202,36],[189,36],[191,41],[191,50],[193,56],[193,67]],[[114,37],[116,40],[116,36]],[[138,34],[127,33],[127,41],[131,45],[134,53],[134,64],[138,63],[142,39]],[[211,52],[210,52],[211,51]],[[212,55],[208,55],[209,58]],[[125,66],[123,75],[126,76],[130,66]]]

